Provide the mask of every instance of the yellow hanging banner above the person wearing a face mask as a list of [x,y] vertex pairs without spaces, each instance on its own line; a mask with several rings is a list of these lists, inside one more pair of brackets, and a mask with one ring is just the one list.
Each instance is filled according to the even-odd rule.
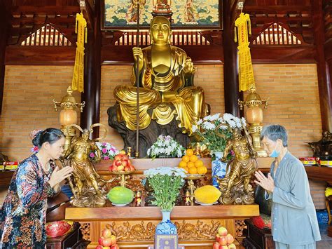
[[250,18],[248,14],[241,13],[235,20],[235,42],[238,41],[239,55],[239,92],[255,87],[248,34],[251,34]]

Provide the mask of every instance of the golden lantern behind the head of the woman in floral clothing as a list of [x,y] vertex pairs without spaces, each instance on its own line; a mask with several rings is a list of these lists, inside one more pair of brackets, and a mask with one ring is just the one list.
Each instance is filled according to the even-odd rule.
[[57,112],[57,107],[62,107],[60,112],[60,124],[62,133],[66,136],[66,142],[64,143],[64,151],[66,152],[70,146],[71,138],[76,135],[76,130],[73,127],[69,127],[72,124],[77,123],[77,112],[76,107],[80,107],[81,112],[83,112],[83,107],[85,102],[76,103],[75,97],[72,95],[73,90],[71,86],[67,88],[67,95],[62,97],[61,102],[55,101],[53,99],[55,112]]

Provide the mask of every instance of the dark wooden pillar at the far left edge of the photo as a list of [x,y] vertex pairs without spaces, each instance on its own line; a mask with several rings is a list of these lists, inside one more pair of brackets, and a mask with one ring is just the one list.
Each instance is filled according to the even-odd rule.
[[[2,100],[4,97],[4,81],[5,81],[5,55],[8,40],[8,9],[6,2],[0,2],[0,114],[2,110]],[[8,3],[7,3],[8,4]]]

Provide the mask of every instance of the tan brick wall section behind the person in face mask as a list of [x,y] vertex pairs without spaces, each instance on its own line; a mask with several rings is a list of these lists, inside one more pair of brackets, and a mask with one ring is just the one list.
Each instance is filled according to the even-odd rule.
[[279,123],[288,130],[289,150],[312,156],[305,142],[321,139],[321,114],[314,64],[254,65],[257,93],[270,97],[263,124]]

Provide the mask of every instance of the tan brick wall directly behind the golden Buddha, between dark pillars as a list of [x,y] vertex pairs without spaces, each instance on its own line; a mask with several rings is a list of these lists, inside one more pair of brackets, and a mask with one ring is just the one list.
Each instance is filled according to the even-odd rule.
[[[205,102],[211,105],[211,112],[225,110],[223,99],[223,65],[198,65],[195,75],[195,86],[202,86],[205,91]],[[130,85],[132,66],[102,66],[102,90],[100,102],[100,121],[108,124],[107,109],[114,105],[113,90],[118,85]],[[109,127],[106,142],[118,149],[123,148],[123,140],[116,130]]]

